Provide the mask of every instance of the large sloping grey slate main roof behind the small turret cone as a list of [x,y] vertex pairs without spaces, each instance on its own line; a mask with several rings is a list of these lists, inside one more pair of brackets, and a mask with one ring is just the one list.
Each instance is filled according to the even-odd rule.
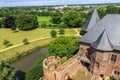
[[[120,50],[120,14],[106,15],[80,39],[80,42],[92,44],[99,38],[104,30],[107,33],[113,49]],[[99,45],[99,43],[97,45]]]

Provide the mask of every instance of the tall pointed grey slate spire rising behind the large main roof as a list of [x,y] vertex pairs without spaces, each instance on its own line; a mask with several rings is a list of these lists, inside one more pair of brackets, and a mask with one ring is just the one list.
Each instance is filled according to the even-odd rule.
[[90,15],[89,19],[85,23],[85,25],[82,27],[83,31],[89,31],[98,21],[100,20],[98,12],[96,8],[93,10],[92,14]]

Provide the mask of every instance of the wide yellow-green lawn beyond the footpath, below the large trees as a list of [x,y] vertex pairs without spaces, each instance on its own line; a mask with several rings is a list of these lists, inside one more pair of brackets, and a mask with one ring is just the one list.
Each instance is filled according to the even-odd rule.
[[[28,41],[50,37],[50,31],[52,29],[35,29],[30,31],[18,31],[13,32],[10,29],[0,29],[0,50],[5,49],[3,41],[7,39],[11,44],[17,45],[22,43],[23,39],[27,38]],[[57,32],[59,29],[55,29]],[[65,29],[65,36],[74,36],[76,34],[72,29]]]

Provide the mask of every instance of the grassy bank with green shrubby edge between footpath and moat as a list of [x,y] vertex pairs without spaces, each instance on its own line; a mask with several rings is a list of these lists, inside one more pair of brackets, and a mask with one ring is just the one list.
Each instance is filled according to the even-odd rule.
[[48,43],[52,40],[53,40],[52,38],[42,39],[35,42],[31,42],[28,45],[21,45],[7,51],[3,51],[2,53],[0,53],[1,54],[0,58],[10,63],[22,56],[27,55],[28,53],[31,53],[40,48],[46,47]]

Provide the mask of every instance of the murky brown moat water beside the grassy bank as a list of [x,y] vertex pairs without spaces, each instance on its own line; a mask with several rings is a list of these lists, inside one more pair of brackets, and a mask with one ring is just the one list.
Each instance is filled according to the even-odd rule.
[[24,78],[25,72],[27,72],[38,59],[46,56],[48,54],[48,48],[41,48],[27,56],[21,57],[18,60],[10,64],[11,67],[17,72],[16,76],[21,79]]

